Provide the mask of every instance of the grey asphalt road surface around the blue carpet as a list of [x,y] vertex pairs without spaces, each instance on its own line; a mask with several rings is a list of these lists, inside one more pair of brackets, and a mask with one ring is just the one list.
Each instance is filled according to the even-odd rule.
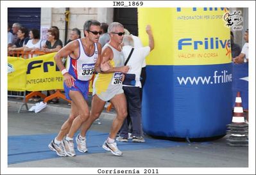
[[[68,116],[67,112],[52,112],[51,110],[37,114],[27,111],[17,113],[18,107],[19,105],[8,103],[8,136],[57,133]],[[101,125],[95,122],[90,130],[109,132],[112,117],[103,114],[100,122]],[[8,167],[130,167],[133,169],[139,167],[157,169],[160,167],[248,167],[248,148],[228,146],[227,137],[228,135],[207,144],[193,142],[185,146],[170,148],[123,151],[123,156],[113,156],[111,153],[85,153],[85,155],[74,157],[10,164]],[[94,174],[94,172],[91,173]],[[162,171],[162,173],[166,172]]]

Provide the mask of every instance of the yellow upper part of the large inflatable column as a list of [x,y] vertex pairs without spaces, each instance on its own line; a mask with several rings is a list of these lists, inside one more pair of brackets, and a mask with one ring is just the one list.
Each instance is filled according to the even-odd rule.
[[225,8],[139,8],[139,37],[148,45],[150,24],[155,49],[147,65],[216,65],[231,62]]

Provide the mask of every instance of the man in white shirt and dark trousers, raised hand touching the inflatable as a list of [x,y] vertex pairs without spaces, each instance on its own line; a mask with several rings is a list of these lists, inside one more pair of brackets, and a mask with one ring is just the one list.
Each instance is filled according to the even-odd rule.
[[[145,142],[141,125],[141,69],[142,63],[149,52],[154,49],[153,34],[151,26],[146,27],[148,33],[149,46],[134,48],[134,40],[130,35],[125,35],[123,39],[123,53],[129,71],[125,75],[123,82],[124,95],[126,96],[128,115],[132,121],[133,142]],[[128,59],[130,57],[130,59]],[[128,61],[127,61],[128,60]],[[128,142],[128,121],[124,120],[119,137],[116,139],[121,142]]]

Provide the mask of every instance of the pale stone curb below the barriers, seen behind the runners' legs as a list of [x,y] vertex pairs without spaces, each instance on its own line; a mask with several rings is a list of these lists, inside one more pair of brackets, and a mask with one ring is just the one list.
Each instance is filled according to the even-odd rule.
[[[8,107],[13,107],[17,109],[17,112],[22,104],[23,102],[8,100]],[[28,104],[28,109],[30,109],[33,105],[35,105],[35,103],[27,103],[27,104]],[[70,110],[71,110],[70,107],[62,107],[62,105],[58,104],[58,105],[47,105],[46,108],[42,109],[40,112],[56,112],[58,114],[69,115]],[[28,111],[28,110],[26,110],[26,106],[23,106],[21,111]],[[115,116],[116,116],[115,112],[106,112],[103,110],[99,118],[112,120],[115,118]]]

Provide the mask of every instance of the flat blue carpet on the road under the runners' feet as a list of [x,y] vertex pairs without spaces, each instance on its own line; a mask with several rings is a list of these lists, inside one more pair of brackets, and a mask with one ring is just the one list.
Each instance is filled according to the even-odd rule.
[[[35,160],[44,160],[47,158],[57,158],[55,151],[48,148],[48,144],[56,133],[40,134],[40,135],[15,135],[8,137],[8,164],[17,164],[21,162],[30,162]],[[105,149],[101,146],[108,133],[89,131],[87,133],[87,148],[88,153],[80,153],[76,150],[76,155],[87,155],[93,153],[105,153]],[[152,149],[152,148],[167,148],[174,146],[187,145],[185,142],[173,142],[158,139],[145,139],[144,143],[118,142],[117,145],[121,151],[136,150],[136,149]],[[76,148],[76,142],[75,142]],[[125,153],[124,153],[125,155]]]

